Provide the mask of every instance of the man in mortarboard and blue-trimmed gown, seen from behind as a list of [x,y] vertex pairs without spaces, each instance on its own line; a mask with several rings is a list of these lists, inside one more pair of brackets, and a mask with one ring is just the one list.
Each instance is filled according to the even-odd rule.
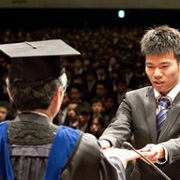
[[125,154],[103,153],[93,135],[53,124],[67,87],[60,56],[79,52],[59,39],[0,50],[12,60],[7,89],[18,109],[0,123],[0,179],[125,180]]

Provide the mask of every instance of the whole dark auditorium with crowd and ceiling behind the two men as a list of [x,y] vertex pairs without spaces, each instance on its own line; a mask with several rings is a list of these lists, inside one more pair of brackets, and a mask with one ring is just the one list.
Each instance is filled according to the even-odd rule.
[[[139,46],[144,30],[180,28],[179,9],[179,0],[0,1],[0,44],[62,39],[81,52],[63,59],[69,83],[54,123],[98,138],[125,93],[149,84]],[[11,120],[17,111],[6,91],[9,64],[0,55],[0,104],[10,105]]]

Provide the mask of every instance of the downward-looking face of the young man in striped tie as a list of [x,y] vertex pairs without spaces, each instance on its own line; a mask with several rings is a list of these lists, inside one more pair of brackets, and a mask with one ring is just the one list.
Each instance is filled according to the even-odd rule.
[[162,95],[167,95],[179,82],[180,66],[172,51],[146,55],[145,69],[151,84]]

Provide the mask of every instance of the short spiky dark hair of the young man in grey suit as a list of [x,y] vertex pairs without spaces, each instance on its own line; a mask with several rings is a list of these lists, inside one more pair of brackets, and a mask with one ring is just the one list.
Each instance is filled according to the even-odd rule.
[[141,40],[141,52],[143,55],[174,53],[179,62],[180,58],[180,32],[167,25],[151,28]]

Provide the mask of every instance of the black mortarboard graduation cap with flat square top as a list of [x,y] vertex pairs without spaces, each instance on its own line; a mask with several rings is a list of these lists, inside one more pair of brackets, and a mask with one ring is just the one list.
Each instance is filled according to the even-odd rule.
[[9,82],[46,82],[63,71],[62,56],[80,55],[60,39],[0,45],[0,51],[11,59]]

